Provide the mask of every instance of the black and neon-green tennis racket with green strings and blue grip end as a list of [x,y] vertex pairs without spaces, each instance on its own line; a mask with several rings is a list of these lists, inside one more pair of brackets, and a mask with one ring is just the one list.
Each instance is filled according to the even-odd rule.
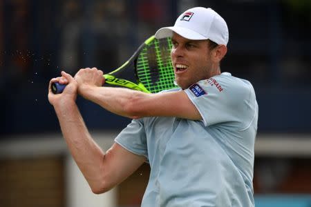
[[[149,37],[122,66],[104,75],[106,83],[115,86],[156,93],[176,88],[171,64],[171,39]],[[66,85],[52,83],[55,94],[62,93]]]

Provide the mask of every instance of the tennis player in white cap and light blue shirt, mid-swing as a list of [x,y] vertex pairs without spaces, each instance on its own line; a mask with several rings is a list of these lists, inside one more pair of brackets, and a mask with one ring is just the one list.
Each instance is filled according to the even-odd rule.
[[[151,166],[142,206],[254,206],[253,165],[258,106],[249,81],[220,73],[227,52],[225,20],[210,8],[191,8],[157,38],[172,37],[180,88],[145,94],[100,87],[102,71],[62,72],[68,83],[48,98],[68,148],[94,193],[104,193],[145,161]],[[77,94],[133,121],[105,153],[79,114]]]

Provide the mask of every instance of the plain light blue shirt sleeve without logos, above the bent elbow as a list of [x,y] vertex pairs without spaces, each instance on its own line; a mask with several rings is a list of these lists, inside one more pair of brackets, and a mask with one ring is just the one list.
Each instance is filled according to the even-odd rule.
[[136,155],[147,157],[147,137],[142,119],[133,119],[131,123],[115,137],[115,142]]

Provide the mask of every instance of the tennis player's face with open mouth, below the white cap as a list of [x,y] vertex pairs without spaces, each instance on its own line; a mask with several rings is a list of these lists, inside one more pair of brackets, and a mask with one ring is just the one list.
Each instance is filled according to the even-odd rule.
[[185,89],[193,83],[216,75],[207,40],[190,40],[174,33],[171,61],[176,82]]

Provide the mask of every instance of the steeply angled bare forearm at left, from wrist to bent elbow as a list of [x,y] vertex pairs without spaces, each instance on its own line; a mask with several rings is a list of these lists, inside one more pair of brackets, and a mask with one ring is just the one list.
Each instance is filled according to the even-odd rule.
[[104,152],[91,138],[75,103],[55,106],[55,112],[71,155],[91,188],[96,188],[104,175]]

